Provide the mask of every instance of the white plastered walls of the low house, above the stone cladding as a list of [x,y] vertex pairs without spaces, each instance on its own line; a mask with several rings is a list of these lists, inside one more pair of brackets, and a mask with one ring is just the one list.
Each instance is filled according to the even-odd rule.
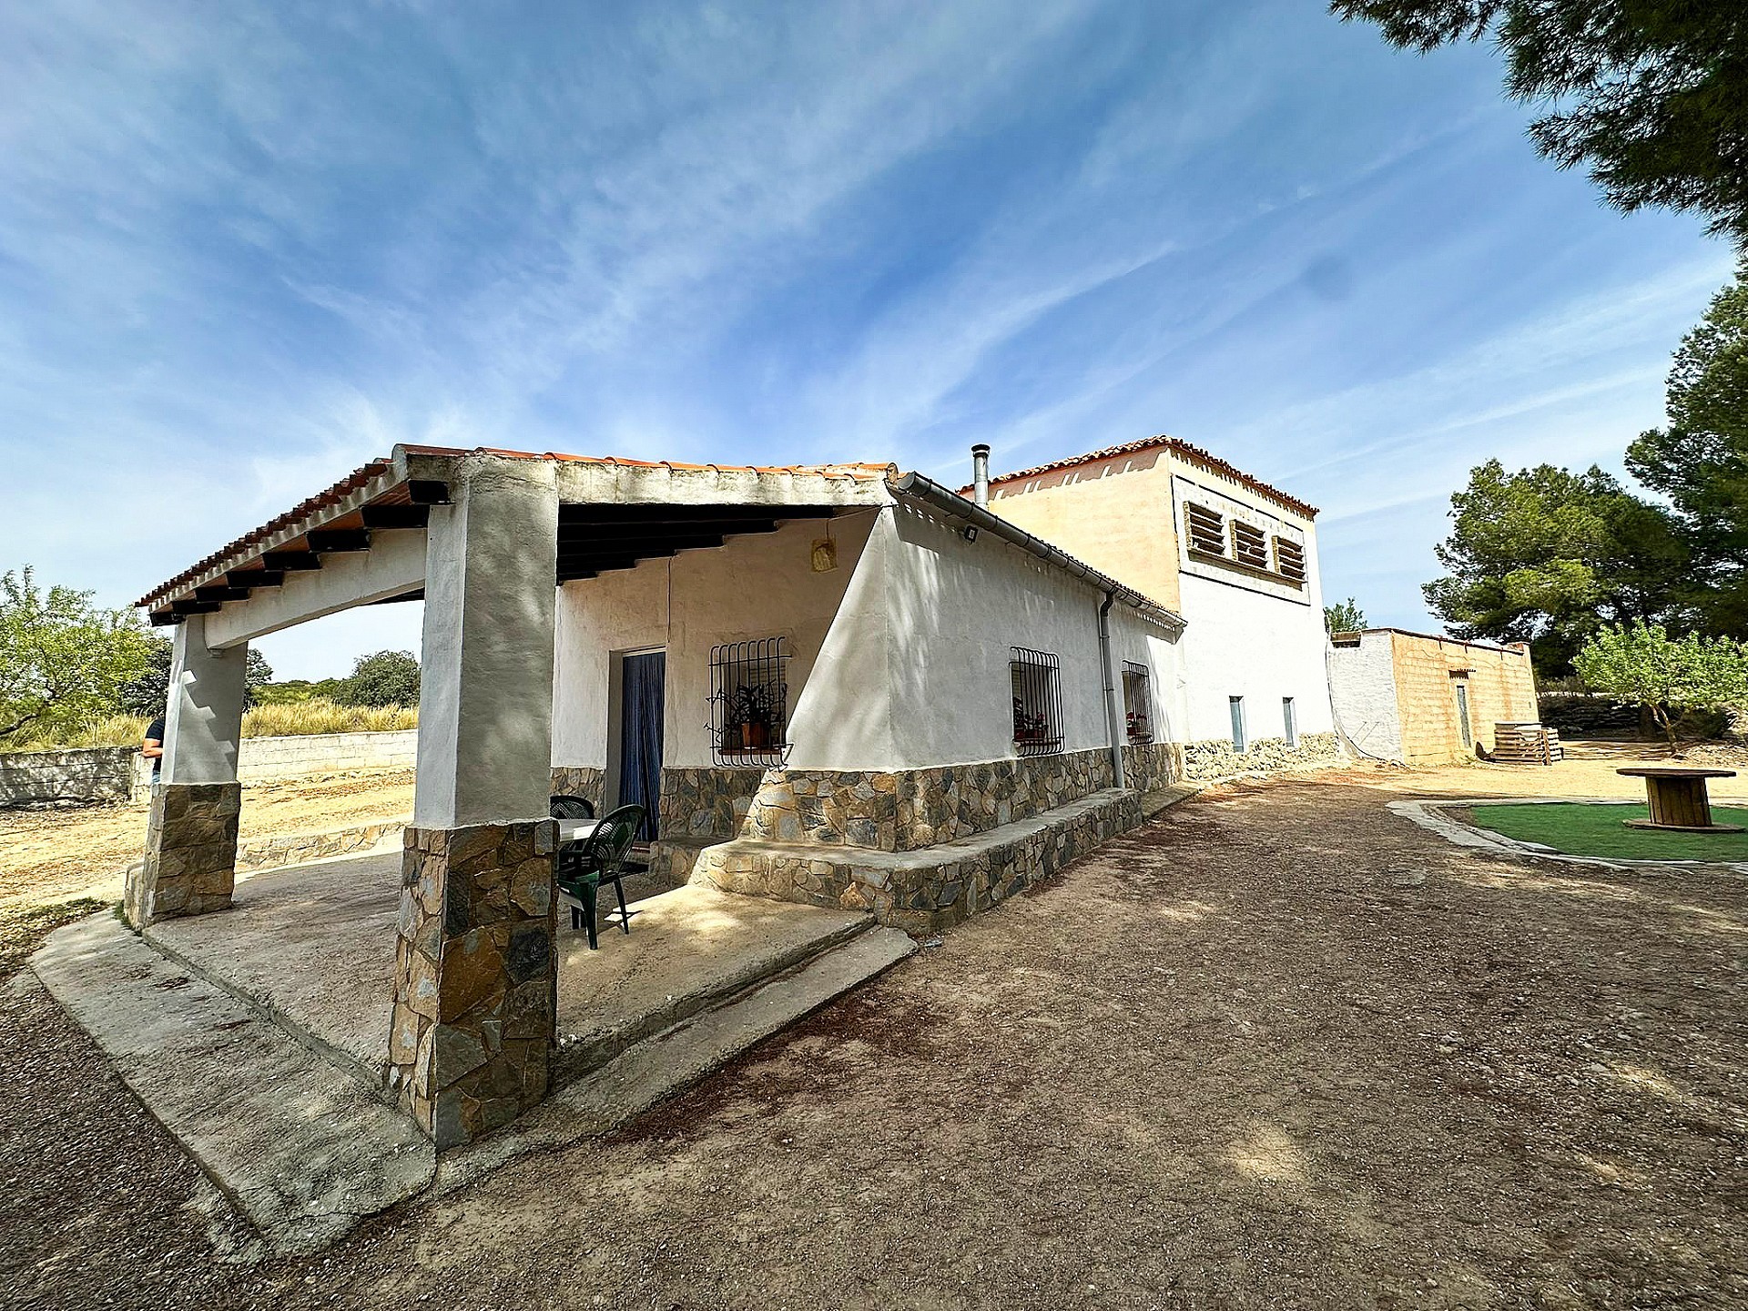
[[[666,649],[662,764],[710,752],[710,649],[785,636],[794,769],[919,769],[1014,755],[1009,649],[1061,661],[1065,750],[1108,746],[1098,664],[1103,594],[909,503],[832,521],[837,568],[813,573],[822,521],[559,587],[552,764],[610,767],[612,656]],[[1115,661],[1152,669],[1154,736],[1185,722],[1178,647],[1112,608]],[[1120,696],[1120,683],[1119,683]],[[1120,701],[1119,701],[1120,710]]]

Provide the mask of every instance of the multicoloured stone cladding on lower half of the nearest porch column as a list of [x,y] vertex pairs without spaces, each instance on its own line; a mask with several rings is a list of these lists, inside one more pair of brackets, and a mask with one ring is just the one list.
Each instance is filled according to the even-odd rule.
[[558,825],[409,827],[404,841],[388,1087],[442,1150],[547,1092]]

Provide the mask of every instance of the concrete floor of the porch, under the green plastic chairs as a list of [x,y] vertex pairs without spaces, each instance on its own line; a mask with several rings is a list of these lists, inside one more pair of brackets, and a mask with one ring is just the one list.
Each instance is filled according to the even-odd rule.
[[[872,923],[706,886],[661,888],[628,879],[631,933],[603,923],[598,951],[559,904],[559,1082]],[[294,865],[241,879],[229,911],[163,921],[145,939],[381,1087],[399,900],[399,851]]]

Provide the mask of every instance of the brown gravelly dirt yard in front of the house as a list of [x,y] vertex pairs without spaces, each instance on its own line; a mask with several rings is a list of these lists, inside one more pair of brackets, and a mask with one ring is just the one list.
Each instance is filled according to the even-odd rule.
[[1622,795],[1592,764],[1206,794],[629,1131],[301,1262],[218,1260],[198,1171],[0,986],[0,1306],[1748,1306],[1748,879],[1384,809]]

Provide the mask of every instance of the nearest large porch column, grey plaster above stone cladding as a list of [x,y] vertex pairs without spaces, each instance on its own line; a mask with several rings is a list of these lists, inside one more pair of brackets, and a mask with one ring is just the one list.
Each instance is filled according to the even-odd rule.
[[467,456],[434,507],[390,1077],[439,1148],[547,1091],[556,996],[552,624],[544,460]]

